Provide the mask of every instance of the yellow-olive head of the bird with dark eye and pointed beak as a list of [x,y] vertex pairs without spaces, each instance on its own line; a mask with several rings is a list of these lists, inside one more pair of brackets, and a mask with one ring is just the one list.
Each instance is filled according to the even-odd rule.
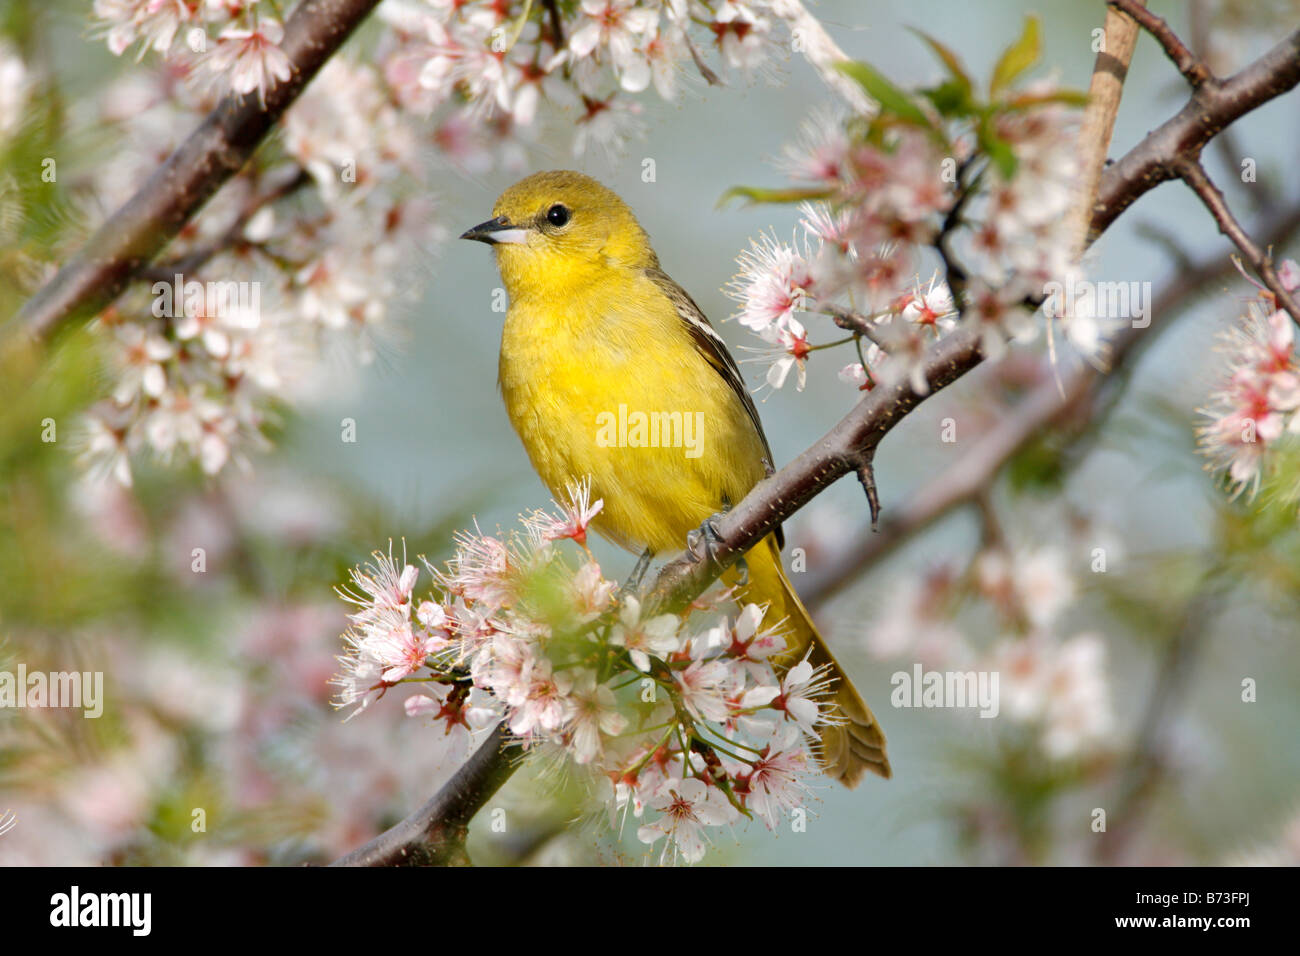
[[500,194],[493,219],[462,239],[489,243],[511,298],[526,290],[558,293],[601,269],[658,265],[632,209],[590,176],[534,173]]

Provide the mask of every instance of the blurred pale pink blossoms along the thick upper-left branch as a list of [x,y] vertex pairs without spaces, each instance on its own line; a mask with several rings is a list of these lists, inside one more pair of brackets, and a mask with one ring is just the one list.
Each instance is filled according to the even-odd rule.
[[[169,72],[127,77],[98,104],[139,163],[105,164],[100,204],[124,202],[211,108]],[[159,147],[164,148],[159,148]],[[278,148],[100,315],[113,388],[90,411],[83,459],[124,484],[142,453],[214,475],[264,444],[277,402],[320,388],[346,345],[368,362],[403,263],[441,235],[419,189],[419,137],[378,73],[333,59],[286,117]]]

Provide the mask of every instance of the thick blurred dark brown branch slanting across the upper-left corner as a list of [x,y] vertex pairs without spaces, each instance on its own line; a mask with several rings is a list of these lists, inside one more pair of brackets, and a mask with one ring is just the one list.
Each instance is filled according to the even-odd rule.
[[226,96],[122,208],[10,320],[6,333],[47,339],[84,321],[139,274],[252,156],[312,77],[378,0],[303,0],[281,48],[294,73],[256,96]]

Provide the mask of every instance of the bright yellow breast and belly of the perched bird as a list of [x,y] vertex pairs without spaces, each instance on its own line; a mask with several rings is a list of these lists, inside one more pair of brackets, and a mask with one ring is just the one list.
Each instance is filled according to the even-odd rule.
[[558,278],[510,284],[499,369],[510,420],[556,497],[592,476],[604,499],[597,531],[634,550],[680,549],[763,477],[762,440],[642,271],[567,276],[563,294]]

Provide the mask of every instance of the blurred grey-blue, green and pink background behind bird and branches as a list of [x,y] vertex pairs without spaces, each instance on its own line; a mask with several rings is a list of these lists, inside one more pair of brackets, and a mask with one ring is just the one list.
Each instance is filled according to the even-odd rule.
[[[124,111],[104,98],[160,66],[153,57],[136,64],[134,51],[114,57],[90,7],[0,0],[6,55],[39,77],[4,135],[4,189],[22,196],[0,221],[5,312],[188,131],[173,120],[150,138],[122,134]],[[1222,73],[1300,23],[1294,3],[1206,3],[1199,25],[1190,22],[1193,4],[1152,7],[1180,35],[1210,36],[1206,52]],[[1086,88],[1104,16],[1101,3],[1067,0],[824,0],[811,9],[850,56],[909,87],[939,70],[907,27],[927,30],[987,75],[1034,12],[1044,26],[1044,74]],[[372,25],[352,48],[364,53],[376,33]],[[723,321],[734,303],[722,289],[751,238],[767,229],[788,235],[798,215],[718,200],[738,183],[784,183],[774,160],[831,96],[797,56],[725,87],[682,86],[673,103],[640,100],[644,135],[614,156],[575,157],[564,124],[503,147],[490,168],[421,147],[429,156],[411,190],[432,203],[430,228],[387,274],[387,315],[367,337],[373,356],[322,347],[302,388],[270,406],[261,421],[268,446],[251,450],[247,467],[209,475],[194,462],[140,457],[129,488],[87,479],[78,454],[90,440],[75,437],[78,421],[118,376],[94,333],[62,339],[35,384],[0,377],[0,670],[103,671],[105,682],[99,719],[0,709],[0,813],[17,819],[0,835],[0,862],[324,862],[446,779],[463,752],[439,745],[396,701],[342,722],[328,679],[347,610],[333,588],[351,566],[390,540],[437,561],[458,528],[510,525],[549,503],[495,388],[499,277],[482,246],[452,237],[488,219],[495,196],[526,172],[582,169],[627,199],[664,269],[745,358],[757,341]],[[1112,156],[1186,95],[1141,36]],[[1234,126],[1235,153],[1206,153],[1248,224],[1300,204],[1288,176],[1300,148],[1296,103],[1283,96]],[[46,156],[58,159],[64,186],[35,185]],[[1240,181],[1245,157],[1256,182]],[[642,177],[646,159],[653,182]],[[1286,237],[1277,251],[1295,256],[1300,242]],[[1228,254],[1195,196],[1165,185],[1105,234],[1092,277],[1149,282],[1158,293],[1186,278],[1188,263],[1219,268]],[[842,481],[789,522],[788,549],[807,555],[796,587],[816,591],[814,617],[875,706],[896,777],[854,792],[827,784],[806,832],[772,835],[750,823],[710,862],[1300,858],[1296,515],[1270,507],[1266,493],[1228,502],[1195,449],[1196,410],[1222,371],[1216,334],[1253,291],[1223,272],[1202,293],[1175,297],[1169,315],[1153,316],[1158,339],[1126,363],[1122,389],[1089,399],[1086,423],[1028,442],[988,494],[864,563],[842,587],[826,585],[831,564],[871,535],[857,483]],[[968,376],[884,441],[876,475],[887,518],[1045,380],[1043,345]],[[840,364],[814,356],[803,392],[786,388],[760,403],[779,467],[857,401],[836,377]],[[760,368],[742,367],[760,382]],[[946,418],[957,421],[956,442],[939,440]],[[57,423],[57,441],[40,441],[46,419]],[[355,441],[346,440],[346,420]],[[614,546],[595,548],[611,576],[630,568]],[[1058,727],[1056,743],[1045,743],[1037,718],[1018,719],[1006,704],[998,719],[889,706],[896,671],[1005,646],[989,585],[1000,574],[1037,588],[1060,646],[1086,658],[1074,679],[1087,687],[1071,693],[1087,697],[1093,723],[1109,732],[1074,739]],[[1251,702],[1247,679],[1257,687]],[[491,806],[514,822],[500,834],[486,817],[476,821],[476,862],[642,858],[634,839],[604,840],[593,857],[597,829],[568,827],[572,801],[529,771]],[[1093,831],[1095,808],[1106,810],[1105,838]]]

